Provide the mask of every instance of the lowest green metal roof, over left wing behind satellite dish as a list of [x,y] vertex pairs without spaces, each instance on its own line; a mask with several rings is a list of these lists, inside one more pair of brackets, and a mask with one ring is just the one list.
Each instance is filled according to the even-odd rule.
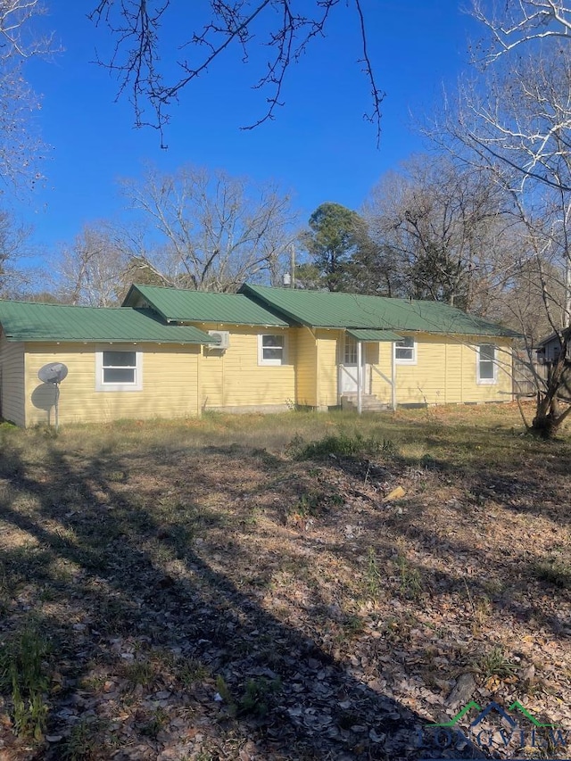
[[0,301],[8,341],[213,343],[192,326],[165,325],[151,310]]

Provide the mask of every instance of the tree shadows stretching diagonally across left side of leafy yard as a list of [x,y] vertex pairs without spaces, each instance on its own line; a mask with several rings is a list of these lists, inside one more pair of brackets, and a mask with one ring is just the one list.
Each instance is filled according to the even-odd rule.
[[[150,451],[87,457],[45,446],[41,465],[15,448],[0,465],[9,536],[0,635],[13,644],[29,630],[51,650],[48,740],[17,740],[4,722],[9,757],[482,755],[470,744],[419,748],[426,717],[238,588],[219,558],[232,550],[231,527],[208,507],[219,483],[193,461],[184,472],[165,465],[184,481],[169,490]],[[135,473],[146,484],[138,491]],[[207,525],[218,548],[203,538]]]

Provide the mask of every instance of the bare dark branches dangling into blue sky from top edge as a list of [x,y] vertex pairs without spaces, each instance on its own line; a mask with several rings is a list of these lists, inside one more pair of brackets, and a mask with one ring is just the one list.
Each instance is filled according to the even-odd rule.
[[[137,127],[162,128],[169,121],[170,106],[181,90],[203,75],[209,66],[229,48],[239,50],[247,61],[252,47],[265,51],[267,60],[253,87],[265,92],[266,109],[250,129],[273,119],[277,106],[283,105],[287,70],[298,62],[318,37],[324,37],[332,13],[339,12],[339,0],[210,0],[206,20],[201,23],[194,6],[178,20],[182,37],[170,43],[165,54],[161,25],[169,13],[176,12],[170,0],[100,0],[90,18],[111,29],[115,39],[111,60],[103,65],[114,72],[120,82],[120,94],[128,92],[135,106]],[[350,0],[360,34],[358,59],[370,89],[371,111],[368,119],[377,125],[380,135],[380,107],[384,93],[377,87],[368,53],[366,22],[360,0]],[[181,15],[182,12],[181,12]],[[161,52],[160,52],[161,51]],[[163,63],[170,64],[177,54],[178,76],[164,79]],[[146,114],[151,106],[152,116]]]

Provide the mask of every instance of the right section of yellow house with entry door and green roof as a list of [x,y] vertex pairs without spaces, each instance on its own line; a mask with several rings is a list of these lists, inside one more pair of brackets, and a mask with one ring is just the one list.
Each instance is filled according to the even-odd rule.
[[[244,285],[296,326],[296,399],[318,409],[511,400],[517,334],[441,302]],[[359,406],[359,401],[358,401]]]

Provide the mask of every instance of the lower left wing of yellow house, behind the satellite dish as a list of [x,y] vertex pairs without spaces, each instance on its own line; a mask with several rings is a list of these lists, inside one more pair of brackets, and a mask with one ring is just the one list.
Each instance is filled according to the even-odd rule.
[[68,368],[60,420],[200,413],[199,358],[211,336],[170,326],[150,310],[0,302],[0,415],[18,426],[50,421],[53,385],[38,370]]

